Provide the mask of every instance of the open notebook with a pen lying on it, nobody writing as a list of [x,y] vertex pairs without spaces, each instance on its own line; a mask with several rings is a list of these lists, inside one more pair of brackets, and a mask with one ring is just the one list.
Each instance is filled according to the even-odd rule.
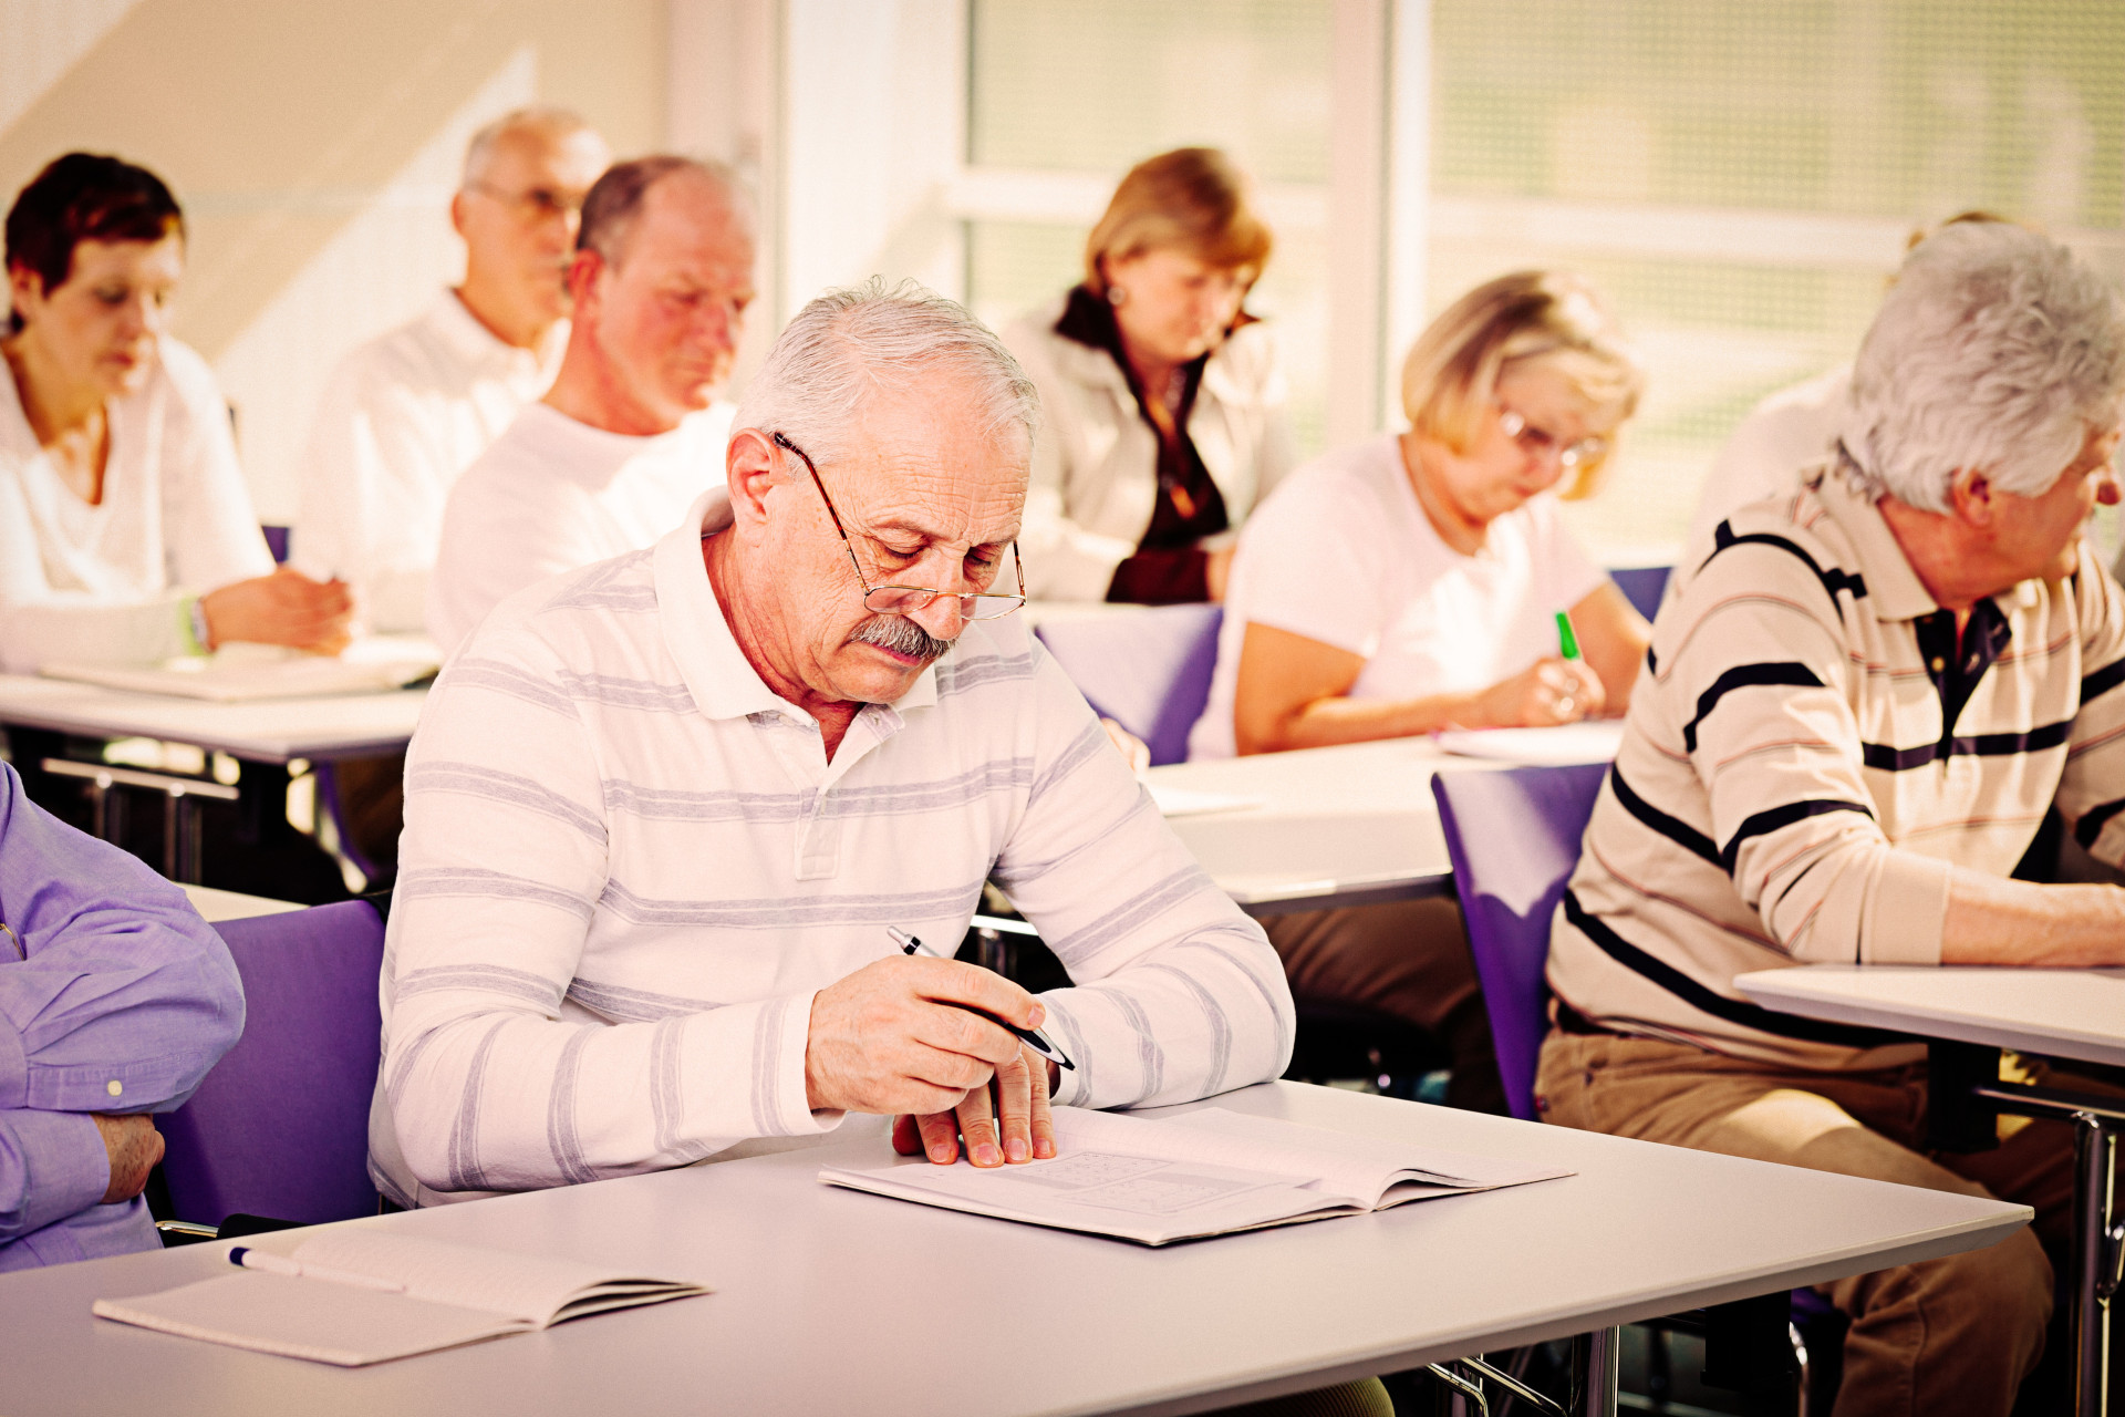
[[[293,1258],[336,1277],[230,1270],[162,1294],[100,1298],[94,1313],[257,1353],[361,1364],[531,1332],[586,1313],[708,1294],[676,1279],[614,1275],[595,1264],[523,1256],[368,1228],[325,1230]],[[400,1290],[344,1279],[363,1275]]]

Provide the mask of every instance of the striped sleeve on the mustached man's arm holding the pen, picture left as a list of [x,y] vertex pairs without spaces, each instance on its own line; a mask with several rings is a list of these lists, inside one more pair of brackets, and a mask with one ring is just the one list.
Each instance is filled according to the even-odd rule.
[[597,746],[544,656],[484,635],[436,684],[406,763],[382,1086],[408,1168],[438,1192],[533,1190],[833,1128],[842,1113],[805,1098],[810,992],[561,1018],[608,833]]

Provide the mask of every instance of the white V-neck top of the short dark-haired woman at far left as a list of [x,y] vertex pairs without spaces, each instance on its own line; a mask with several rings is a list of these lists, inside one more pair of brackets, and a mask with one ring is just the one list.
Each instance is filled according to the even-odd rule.
[[60,478],[0,374],[0,669],[149,663],[191,648],[185,599],[272,574],[212,370],[164,338],[113,399],[104,497]]

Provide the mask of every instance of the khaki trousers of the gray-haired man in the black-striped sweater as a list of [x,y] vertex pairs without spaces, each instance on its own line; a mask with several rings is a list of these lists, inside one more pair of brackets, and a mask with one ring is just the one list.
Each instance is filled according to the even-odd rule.
[[2044,1251],[2059,1253],[2072,1232],[2063,1122],[2004,1120],[1995,1151],[1921,1154],[1925,1064],[1810,1073],[1556,1028],[1534,1090],[1543,1120],[1562,1126],[2034,1207],[2034,1230],[1989,1249],[1821,1285],[1853,1321],[1836,1417],[2006,1417],[2014,1406],[2053,1307]]

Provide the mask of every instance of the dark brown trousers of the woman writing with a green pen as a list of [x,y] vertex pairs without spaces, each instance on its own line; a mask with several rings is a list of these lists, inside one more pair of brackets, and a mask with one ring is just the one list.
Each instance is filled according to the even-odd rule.
[[1262,928],[1298,1003],[1362,1005],[1415,1024],[1451,1060],[1451,1107],[1507,1109],[1460,901],[1303,909],[1269,916]]

